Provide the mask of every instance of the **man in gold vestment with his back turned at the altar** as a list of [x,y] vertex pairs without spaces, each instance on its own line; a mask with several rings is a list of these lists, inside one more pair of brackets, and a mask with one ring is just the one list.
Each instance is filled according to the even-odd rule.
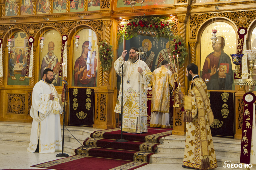
[[167,69],[168,61],[163,60],[161,67],[153,71],[151,78],[152,99],[151,99],[151,127],[170,127],[170,88],[173,88],[172,71]]

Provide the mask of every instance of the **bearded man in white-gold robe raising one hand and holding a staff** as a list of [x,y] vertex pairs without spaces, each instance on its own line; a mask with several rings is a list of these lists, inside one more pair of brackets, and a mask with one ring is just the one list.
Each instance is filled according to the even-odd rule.
[[[150,82],[152,72],[148,65],[139,61],[137,48],[131,48],[129,60],[124,63],[124,57],[127,50],[124,50],[122,56],[114,63],[116,73],[120,76],[124,63],[124,83],[123,83],[123,131],[129,133],[148,132],[147,125],[147,91],[146,88]],[[139,96],[139,73],[140,73],[140,96]],[[121,113],[122,86],[120,87],[118,103],[115,112]],[[140,101],[140,102],[139,102]],[[140,113],[139,113],[140,104]]]

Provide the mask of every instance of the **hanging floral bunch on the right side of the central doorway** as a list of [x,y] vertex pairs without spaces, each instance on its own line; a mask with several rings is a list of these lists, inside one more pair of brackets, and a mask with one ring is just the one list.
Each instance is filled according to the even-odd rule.
[[[179,61],[179,67],[182,67],[182,64],[185,63],[185,59],[188,56],[187,48],[185,47],[185,42],[180,35],[173,37],[173,41],[170,41],[170,52],[174,56],[175,63],[177,65],[177,56]],[[173,63],[173,60],[172,60]]]

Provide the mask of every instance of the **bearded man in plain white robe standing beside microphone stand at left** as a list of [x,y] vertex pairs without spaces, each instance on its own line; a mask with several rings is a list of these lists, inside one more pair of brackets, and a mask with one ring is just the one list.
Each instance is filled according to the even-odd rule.
[[62,149],[60,112],[63,105],[61,94],[58,95],[52,85],[53,79],[53,70],[45,69],[43,78],[33,88],[30,109],[33,122],[27,149],[31,153],[36,149],[39,149],[39,153],[52,153]]

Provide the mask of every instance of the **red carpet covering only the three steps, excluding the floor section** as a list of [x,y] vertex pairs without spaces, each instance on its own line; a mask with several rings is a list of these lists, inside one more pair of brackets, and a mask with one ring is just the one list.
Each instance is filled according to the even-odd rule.
[[84,141],[84,146],[75,150],[76,155],[100,158],[122,159],[128,161],[149,162],[156,152],[159,139],[172,134],[167,129],[148,129],[148,133],[123,133],[128,142],[115,142],[121,138],[119,128],[99,130],[91,133],[91,138]]

